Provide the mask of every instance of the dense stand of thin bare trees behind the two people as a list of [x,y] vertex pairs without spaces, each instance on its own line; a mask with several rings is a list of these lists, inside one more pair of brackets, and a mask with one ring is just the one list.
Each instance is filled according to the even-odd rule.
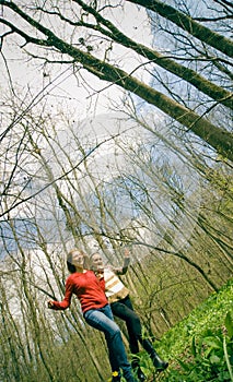
[[[61,115],[27,114],[11,129],[19,132],[11,144],[1,146],[8,147],[1,168],[10,170],[9,177],[3,172],[9,181],[0,225],[5,256],[1,348],[9,381],[18,375],[26,381],[107,378],[103,338],[86,329],[75,301],[63,314],[45,309],[48,298],[63,294],[66,252],[74,244],[101,250],[115,264],[123,261],[121,248],[132,246],[127,283],[144,327],[155,336],[230,277],[231,222],[226,207],[219,214],[218,200],[223,189],[223,199],[231,200],[231,178],[229,188],[217,181],[221,175],[228,179],[228,162],[224,169],[218,163],[208,167],[195,142],[185,147],[156,119],[148,123],[149,116],[145,122],[118,112],[115,120],[115,134],[112,129],[107,139],[97,136],[97,128],[91,136],[90,120],[83,129],[83,123],[71,127],[68,118],[59,131]],[[109,118],[107,132],[108,124]],[[188,177],[182,177],[185,168]],[[206,195],[201,214],[200,191]],[[213,201],[217,207],[209,214]]]

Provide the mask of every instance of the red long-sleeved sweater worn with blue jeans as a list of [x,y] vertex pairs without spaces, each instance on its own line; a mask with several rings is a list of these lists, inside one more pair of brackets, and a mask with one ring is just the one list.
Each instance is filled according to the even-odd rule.
[[108,303],[104,290],[103,279],[98,280],[93,271],[72,273],[66,282],[63,300],[61,302],[53,301],[53,309],[65,310],[69,308],[72,294],[77,295],[80,300],[83,313],[90,309],[103,308]]

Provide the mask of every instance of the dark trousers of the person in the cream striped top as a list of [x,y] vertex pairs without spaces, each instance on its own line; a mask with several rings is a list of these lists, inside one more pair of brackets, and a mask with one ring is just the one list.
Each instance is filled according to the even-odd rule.
[[138,314],[133,311],[133,307],[129,296],[126,298],[110,303],[110,309],[114,315],[126,322],[126,326],[129,334],[129,347],[132,354],[139,353],[140,342],[143,346],[141,335],[141,323]]

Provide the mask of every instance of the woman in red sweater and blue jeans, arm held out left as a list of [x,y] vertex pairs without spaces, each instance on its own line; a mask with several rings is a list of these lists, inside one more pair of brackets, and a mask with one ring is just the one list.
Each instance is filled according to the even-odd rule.
[[48,301],[48,308],[54,310],[69,308],[71,297],[74,294],[81,303],[83,318],[86,323],[105,335],[113,372],[112,381],[120,381],[119,370],[121,370],[127,382],[136,382],[126,356],[120,330],[114,322],[113,313],[104,293],[104,278],[98,279],[93,271],[86,271],[84,261],[84,253],[75,248],[68,253],[67,266],[70,275],[66,282],[65,298],[61,302]]

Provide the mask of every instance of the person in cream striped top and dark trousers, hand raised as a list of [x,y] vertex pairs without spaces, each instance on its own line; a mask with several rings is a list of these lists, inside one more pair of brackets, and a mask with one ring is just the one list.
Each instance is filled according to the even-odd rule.
[[[129,336],[129,347],[132,354],[132,368],[136,370],[139,381],[145,381],[145,375],[139,367],[139,343],[150,355],[150,358],[158,371],[165,370],[168,362],[162,360],[153,348],[152,343],[142,337],[142,327],[140,318],[135,312],[129,296],[129,289],[123,284],[119,275],[126,274],[130,264],[130,253],[125,249],[124,265],[121,267],[105,266],[103,258],[98,252],[91,255],[91,268],[96,276],[104,275],[105,294],[115,317],[124,320],[127,325]],[[135,357],[133,357],[135,355]],[[120,378],[116,382],[120,381]]]

